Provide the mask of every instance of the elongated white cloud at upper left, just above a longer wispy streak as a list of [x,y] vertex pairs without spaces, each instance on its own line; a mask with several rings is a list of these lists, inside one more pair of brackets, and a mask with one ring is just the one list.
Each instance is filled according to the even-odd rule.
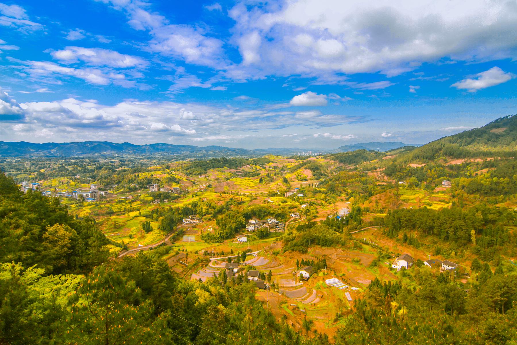
[[114,50],[103,48],[66,47],[63,50],[51,51],[52,57],[61,62],[72,64],[79,61],[90,66],[107,66],[113,68],[146,67],[147,61],[141,57],[120,54]]

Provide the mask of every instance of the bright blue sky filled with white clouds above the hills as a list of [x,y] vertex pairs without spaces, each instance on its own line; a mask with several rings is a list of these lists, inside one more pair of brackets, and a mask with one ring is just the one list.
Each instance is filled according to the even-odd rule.
[[0,140],[425,143],[517,113],[517,2],[0,0]]

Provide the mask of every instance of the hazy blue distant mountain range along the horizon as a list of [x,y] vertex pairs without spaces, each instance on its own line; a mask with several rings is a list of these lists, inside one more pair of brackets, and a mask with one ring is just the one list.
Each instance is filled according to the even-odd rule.
[[[373,142],[341,146],[335,150],[321,151],[336,153],[355,151],[357,149],[373,149],[388,151],[406,146],[401,142]],[[415,145],[417,146],[417,145]],[[419,145],[418,145],[419,146]],[[24,141],[0,141],[0,157],[79,157],[79,156],[175,156],[185,158],[207,157],[258,157],[268,154],[290,156],[308,152],[308,148],[265,148],[245,149],[224,146],[173,145],[165,143],[135,145],[130,143],[112,143],[109,141],[84,141],[74,143],[35,144]],[[316,149],[312,149],[316,152]],[[319,150],[318,150],[319,151]]]

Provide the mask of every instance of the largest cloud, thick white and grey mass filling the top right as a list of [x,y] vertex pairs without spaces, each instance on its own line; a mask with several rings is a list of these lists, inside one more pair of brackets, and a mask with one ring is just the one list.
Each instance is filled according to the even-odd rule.
[[[243,60],[265,74],[380,71],[392,77],[442,57],[513,57],[517,42],[517,7],[505,0],[238,3],[229,14]],[[250,34],[261,38],[251,60],[244,56]]]

